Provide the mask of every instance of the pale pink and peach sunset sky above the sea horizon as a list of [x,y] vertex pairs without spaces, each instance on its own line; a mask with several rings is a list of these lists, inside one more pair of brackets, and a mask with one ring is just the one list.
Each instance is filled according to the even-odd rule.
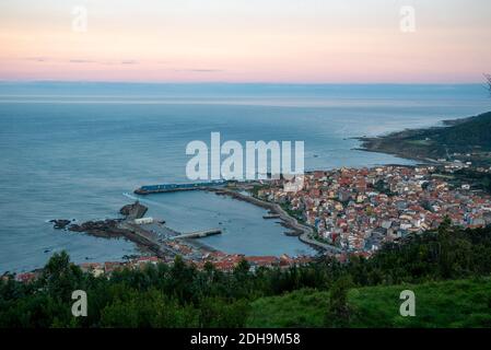
[[0,80],[474,83],[489,0],[1,0]]

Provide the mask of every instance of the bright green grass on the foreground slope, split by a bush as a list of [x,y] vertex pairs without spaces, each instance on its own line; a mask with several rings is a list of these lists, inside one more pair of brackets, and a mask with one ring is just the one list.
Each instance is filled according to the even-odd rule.
[[[416,294],[416,316],[399,314],[400,292]],[[248,327],[323,327],[329,295],[300,290],[252,304]],[[351,289],[351,327],[491,327],[491,279]]]

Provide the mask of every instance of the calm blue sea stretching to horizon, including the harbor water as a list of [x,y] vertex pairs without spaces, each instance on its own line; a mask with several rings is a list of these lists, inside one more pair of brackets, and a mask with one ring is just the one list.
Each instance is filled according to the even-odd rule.
[[[0,272],[136,254],[124,240],[57,231],[50,219],[114,218],[141,185],[187,182],[188,142],[305,142],[307,170],[411,164],[353,150],[351,138],[491,109],[483,85],[274,85],[0,82]],[[177,230],[221,226],[206,243],[248,255],[311,254],[265,211],[207,192],[152,195]]]

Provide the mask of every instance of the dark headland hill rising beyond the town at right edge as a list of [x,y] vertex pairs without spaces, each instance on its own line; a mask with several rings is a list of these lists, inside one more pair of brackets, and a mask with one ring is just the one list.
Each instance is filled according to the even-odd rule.
[[[459,160],[491,164],[491,112],[444,127],[413,129],[377,138],[361,138],[362,149],[416,160]],[[470,154],[470,155],[467,155]]]

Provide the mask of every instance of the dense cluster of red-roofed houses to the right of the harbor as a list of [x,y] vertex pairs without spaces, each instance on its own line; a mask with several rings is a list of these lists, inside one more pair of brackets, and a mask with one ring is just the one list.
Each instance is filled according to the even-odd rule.
[[384,242],[436,229],[446,218],[470,229],[491,223],[490,196],[469,184],[453,188],[435,166],[343,167],[306,174],[302,183],[292,189],[279,179],[257,196],[297,213],[315,228],[314,238],[340,247],[344,256],[369,257]]

